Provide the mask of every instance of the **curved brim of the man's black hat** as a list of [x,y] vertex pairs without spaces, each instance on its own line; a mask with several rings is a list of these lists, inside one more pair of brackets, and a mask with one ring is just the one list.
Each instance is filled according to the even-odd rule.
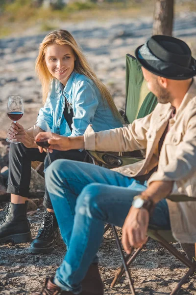
[[[184,74],[183,76],[170,76],[170,75],[167,75],[167,74],[163,74],[161,71],[157,70],[155,67],[152,67],[145,59],[140,59],[139,58],[139,50],[140,48],[143,46],[144,44],[140,45],[136,50],[135,50],[135,56],[136,56],[136,59],[140,62],[140,64],[145,68],[147,69],[149,72],[157,75],[157,76],[161,76],[161,77],[164,77],[164,78],[168,78],[168,79],[171,79],[171,80],[187,80],[187,79],[190,79],[190,78],[193,78],[194,76],[196,76],[196,69],[193,70],[191,73],[189,74]],[[192,61],[194,61],[195,59],[192,57]],[[196,60],[195,60],[196,61]],[[176,65],[177,66],[177,65]]]

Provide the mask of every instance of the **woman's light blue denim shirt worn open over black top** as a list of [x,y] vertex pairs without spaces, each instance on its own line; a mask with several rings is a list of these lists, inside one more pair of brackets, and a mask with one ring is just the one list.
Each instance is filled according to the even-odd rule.
[[[41,129],[44,129],[43,122],[47,121],[54,133],[79,136],[84,134],[89,124],[92,124],[95,132],[123,126],[121,120],[114,117],[107,102],[104,104],[94,82],[85,75],[73,71],[63,92],[60,82],[53,79],[46,103],[40,109],[37,118]],[[73,108],[72,132],[63,115],[64,96]]]

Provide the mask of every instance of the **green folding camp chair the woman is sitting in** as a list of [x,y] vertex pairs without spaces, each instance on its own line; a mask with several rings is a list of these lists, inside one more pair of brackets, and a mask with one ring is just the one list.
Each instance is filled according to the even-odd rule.
[[[141,65],[136,58],[126,55],[126,105],[125,117],[129,123],[136,118],[150,114],[157,104],[156,96],[147,88]],[[94,164],[106,168],[115,168],[143,159],[140,151],[133,152],[98,152],[88,151]]]

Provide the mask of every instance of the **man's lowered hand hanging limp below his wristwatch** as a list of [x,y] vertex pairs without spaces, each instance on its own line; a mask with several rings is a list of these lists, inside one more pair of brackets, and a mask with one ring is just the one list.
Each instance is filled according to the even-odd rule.
[[122,243],[124,250],[130,254],[130,246],[139,248],[144,244],[149,223],[149,213],[146,209],[131,207],[123,224]]

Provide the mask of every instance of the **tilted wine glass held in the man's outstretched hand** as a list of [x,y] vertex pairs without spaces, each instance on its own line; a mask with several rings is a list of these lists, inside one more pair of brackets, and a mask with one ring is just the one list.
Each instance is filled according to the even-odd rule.
[[40,146],[42,148],[46,148],[49,164],[51,164],[51,159],[49,156],[49,146],[50,145],[48,143],[48,140],[51,138],[52,134],[51,134],[51,130],[49,128],[49,125],[46,121],[42,122],[42,129],[38,126],[37,122],[33,125],[34,139],[35,139],[36,135],[40,132],[47,132],[48,134],[46,136],[43,136],[43,138],[37,139],[35,142],[38,146]]

